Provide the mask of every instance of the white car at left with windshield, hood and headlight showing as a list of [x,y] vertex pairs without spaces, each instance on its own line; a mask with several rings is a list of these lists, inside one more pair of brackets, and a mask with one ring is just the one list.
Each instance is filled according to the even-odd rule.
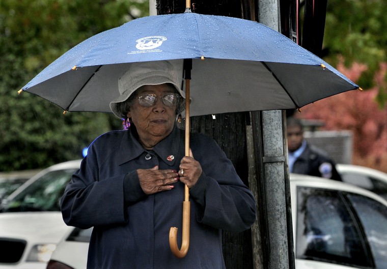
[[57,244],[73,227],[59,199],[80,160],[42,170],[3,200],[0,213],[0,269],[44,269]]

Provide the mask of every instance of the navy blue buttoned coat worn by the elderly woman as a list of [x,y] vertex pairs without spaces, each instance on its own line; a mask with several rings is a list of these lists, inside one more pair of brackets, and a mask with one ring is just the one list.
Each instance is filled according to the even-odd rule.
[[[181,244],[184,184],[148,196],[136,169],[159,165],[179,170],[184,134],[175,126],[149,151],[133,133],[113,131],[98,137],[61,199],[67,225],[94,226],[88,269],[225,268],[222,230],[243,231],[256,219],[255,199],[231,161],[213,139],[190,135],[192,154],[203,173],[190,189],[190,244],[180,259],[170,250],[169,230],[179,228]],[[124,194],[124,189],[130,193]]]

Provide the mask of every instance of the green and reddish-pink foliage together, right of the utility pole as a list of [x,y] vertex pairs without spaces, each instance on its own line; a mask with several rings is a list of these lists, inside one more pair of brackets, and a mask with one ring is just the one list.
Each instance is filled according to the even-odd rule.
[[297,116],[321,119],[325,130],[351,130],[352,163],[387,172],[387,6],[383,0],[329,0],[326,61],[360,85],[310,104]]

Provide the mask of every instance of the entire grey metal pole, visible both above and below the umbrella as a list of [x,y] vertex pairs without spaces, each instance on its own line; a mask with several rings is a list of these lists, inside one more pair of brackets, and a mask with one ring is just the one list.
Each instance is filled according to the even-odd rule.
[[[278,0],[258,0],[258,21],[279,31],[279,10]],[[263,178],[260,184],[266,217],[266,227],[261,229],[265,233],[264,264],[267,269],[294,268],[285,113],[281,110],[254,113],[253,130],[262,130]]]

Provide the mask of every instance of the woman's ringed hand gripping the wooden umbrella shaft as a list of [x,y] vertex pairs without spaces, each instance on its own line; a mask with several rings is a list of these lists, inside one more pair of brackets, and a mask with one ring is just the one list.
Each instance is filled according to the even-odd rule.
[[189,189],[192,188],[202,174],[202,166],[197,160],[193,159],[191,149],[189,149],[189,157],[183,157],[179,167],[180,181],[187,185]]

